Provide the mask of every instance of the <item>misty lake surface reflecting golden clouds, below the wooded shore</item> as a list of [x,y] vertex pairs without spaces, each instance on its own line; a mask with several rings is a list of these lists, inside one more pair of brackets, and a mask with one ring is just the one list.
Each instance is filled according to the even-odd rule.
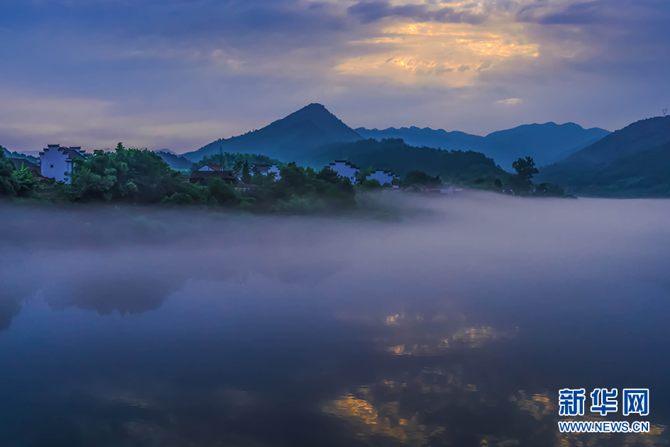
[[[670,201],[369,200],[0,205],[0,445],[668,441]],[[561,438],[564,387],[649,388],[656,431]]]

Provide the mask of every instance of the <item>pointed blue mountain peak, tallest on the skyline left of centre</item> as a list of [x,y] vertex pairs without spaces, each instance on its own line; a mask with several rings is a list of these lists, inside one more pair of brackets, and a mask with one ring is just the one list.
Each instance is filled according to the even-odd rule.
[[280,160],[303,162],[315,148],[360,140],[356,131],[342,123],[321,104],[310,104],[274,123],[232,138],[222,138],[199,150],[185,153],[191,161],[223,152],[260,153]]

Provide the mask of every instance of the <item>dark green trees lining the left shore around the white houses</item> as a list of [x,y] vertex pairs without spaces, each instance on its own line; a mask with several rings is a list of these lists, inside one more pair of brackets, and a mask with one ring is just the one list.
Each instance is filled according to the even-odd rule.
[[[235,164],[240,157],[230,156],[228,161]],[[289,163],[281,168],[281,179],[275,180],[272,173],[251,175],[247,161],[242,165],[242,169],[246,166],[245,177],[249,184],[242,184],[240,188],[220,178],[206,184],[193,184],[182,172],[172,170],[159,155],[149,150],[124,148],[119,143],[114,152],[96,150],[76,160],[69,184],[40,185],[30,171],[17,170],[0,152],[0,195],[49,197],[64,202],[202,204],[291,213],[355,206],[351,182],[330,168],[316,172]]]

